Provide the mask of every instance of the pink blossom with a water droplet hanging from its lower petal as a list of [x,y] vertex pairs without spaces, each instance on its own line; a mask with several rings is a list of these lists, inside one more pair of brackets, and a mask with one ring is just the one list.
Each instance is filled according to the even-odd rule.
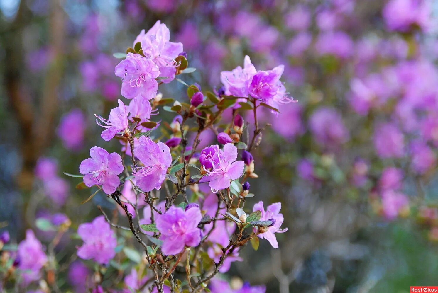
[[[208,148],[219,149],[217,145]],[[207,171],[207,175],[201,178],[200,182],[209,182],[208,185],[210,185],[212,191],[230,187],[230,180],[239,178],[245,169],[244,162],[236,161],[236,159],[237,147],[232,143],[227,143],[223,150],[219,149],[219,151],[215,150],[214,152],[207,153],[203,160],[208,160],[208,163],[212,163],[212,170]]]

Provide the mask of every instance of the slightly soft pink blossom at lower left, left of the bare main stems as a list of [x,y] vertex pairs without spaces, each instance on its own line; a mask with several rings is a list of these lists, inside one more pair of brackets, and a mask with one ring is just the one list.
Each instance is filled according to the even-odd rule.
[[82,223],[78,234],[84,244],[78,248],[78,256],[83,259],[94,259],[100,264],[107,264],[116,255],[116,234],[106,222],[104,216],[98,216],[92,223]]

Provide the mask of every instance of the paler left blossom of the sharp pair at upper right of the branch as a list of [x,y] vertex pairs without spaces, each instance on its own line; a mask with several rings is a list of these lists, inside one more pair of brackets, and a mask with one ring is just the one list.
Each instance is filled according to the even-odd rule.
[[249,56],[245,56],[244,68],[237,66],[233,71],[222,71],[220,80],[225,87],[225,94],[236,97],[247,97],[249,85],[256,73]]

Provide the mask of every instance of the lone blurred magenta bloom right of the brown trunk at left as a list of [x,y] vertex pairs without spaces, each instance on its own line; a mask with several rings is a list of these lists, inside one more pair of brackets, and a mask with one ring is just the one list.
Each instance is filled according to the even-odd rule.
[[85,115],[80,109],[73,109],[65,114],[57,128],[57,134],[64,147],[78,150],[82,147],[85,133]]

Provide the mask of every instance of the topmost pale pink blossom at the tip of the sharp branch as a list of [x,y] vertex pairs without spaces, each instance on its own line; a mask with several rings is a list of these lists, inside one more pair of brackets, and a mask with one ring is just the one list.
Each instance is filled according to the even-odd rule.
[[183,52],[182,43],[169,41],[169,28],[161,21],[155,22],[154,26],[146,33],[145,30],[142,30],[134,41],[134,45],[141,42],[145,58],[151,59],[159,67],[159,76],[168,77],[162,80],[166,84],[175,78],[177,73],[175,58]]

